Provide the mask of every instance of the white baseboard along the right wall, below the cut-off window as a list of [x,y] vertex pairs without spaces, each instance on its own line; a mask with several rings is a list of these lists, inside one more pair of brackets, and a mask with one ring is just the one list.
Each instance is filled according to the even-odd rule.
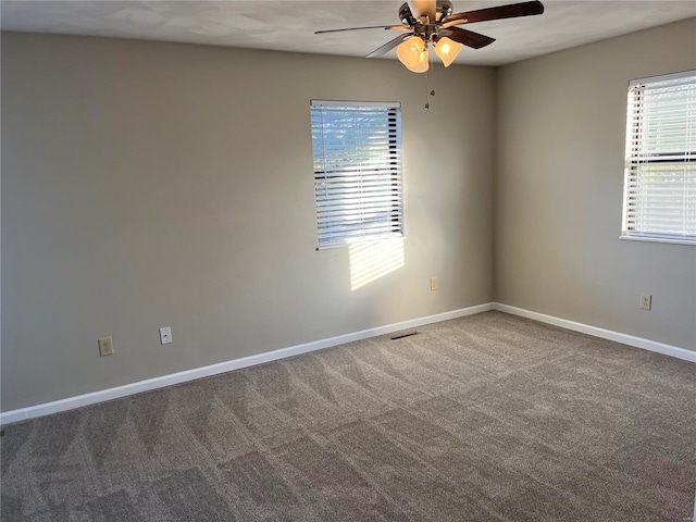
[[496,302],[494,310],[500,312],[511,313],[513,315],[520,315],[521,318],[533,319],[542,323],[552,324],[560,326],[561,328],[572,330],[573,332],[581,332],[583,334],[594,335],[595,337],[601,337],[602,339],[614,340],[624,345],[633,346],[635,348],[643,348],[644,350],[656,351],[664,356],[675,357],[676,359],[683,359],[684,361],[696,362],[696,351],[687,350],[685,348],[679,348],[676,346],[666,345],[658,343],[657,340],[645,339],[643,337],[635,337],[633,335],[621,334],[619,332],[612,332],[610,330],[599,328],[597,326],[591,326],[588,324],[576,323],[567,319],[555,318],[554,315],[546,315],[545,313],[532,312],[522,308],[511,307],[509,304],[501,304]]

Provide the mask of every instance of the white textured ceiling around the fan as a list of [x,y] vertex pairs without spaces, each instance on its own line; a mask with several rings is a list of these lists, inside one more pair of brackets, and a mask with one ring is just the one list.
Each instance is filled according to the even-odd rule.
[[[318,29],[398,24],[405,0],[275,1],[10,1],[0,2],[2,30],[92,35],[215,46],[364,57],[397,33]],[[696,16],[696,0],[542,0],[540,16],[472,24],[497,39],[465,48],[457,63],[500,65]],[[455,12],[517,3],[452,0]],[[694,41],[685,45],[695,46]],[[386,58],[396,58],[390,51]]]

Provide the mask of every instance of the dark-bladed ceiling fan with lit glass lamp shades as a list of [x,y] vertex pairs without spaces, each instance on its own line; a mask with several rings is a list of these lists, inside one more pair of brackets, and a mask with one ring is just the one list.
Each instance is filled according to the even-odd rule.
[[348,27],[345,29],[318,30],[314,34],[337,33],[358,29],[399,30],[403,34],[384,46],[375,49],[366,58],[381,57],[395,47],[399,61],[414,73],[427,71],[427,48],[433,46],[445,66],[449,66],[467,46],[481,49],[495,41],[472,30],[457,27],[458,25],[488,22],[492,20],[514,18],[542,14],[544,4],[539,1],[512,3],[497,8],[478,9],[467,13],[453,13],[449,0],[407,0],[399,9],[401,25],[372,25],[366,27]]

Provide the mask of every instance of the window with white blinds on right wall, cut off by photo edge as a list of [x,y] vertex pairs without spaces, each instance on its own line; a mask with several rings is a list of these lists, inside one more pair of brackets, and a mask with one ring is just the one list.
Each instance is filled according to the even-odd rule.
[[696,71],[629,84],[621,236],[696,245]]

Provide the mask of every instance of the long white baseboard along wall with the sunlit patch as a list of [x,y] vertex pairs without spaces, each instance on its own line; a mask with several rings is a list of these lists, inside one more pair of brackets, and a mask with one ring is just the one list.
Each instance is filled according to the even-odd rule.
[[362,340],[369,337],[375,337],[377,335],[390,334],[393,332],[399,332],[401,330],[415,328],[424,324],[437,323],[440,321],[447,321],[449,319],[473,315],[475,313],[493,310],[495,304],[493,302],[488,302],[475,307],[462,308],[449,312],[437,313],[435,315],[427,315],[424,318],[402,321],[400,323],[368,328],[351,334],[338,335],[336,337],[314,340],[312,343],[306,343],[303,345],[281,348],[278,350],[259,353],[258,356],[243,357],[241,359],[220,362],[217,364],[211,364],[209,366],[196,368],[192,370],[186,370],[184,372],[172,373],[170,375],[162,375],[161,377],[148,378],[146,381],[139,381],[137,383],[117,386],[115,388],[102,389],[90,394],[78,395],[76,397],[67,397],[65,399],[55,400],[52,402],[45,402],[42,405],[29,406],[26,408],[20,408],[17,410],[5,411],[0,413],[0,424],[11,424],[13,422],[34,419],[37,417],[50,415],[52,413],[59,413],[61,411],[80,408],[83,406],[95,405],[97,402],[103,402],[105,400],[119,399],[121,397],[162,388],[164,386],[171,386],[173,384],[181,384],[188,381],[195,381],[197,378],[209,377],[211,375],[231,372],[233,370],[239,370],[241,368],[263,364],[264,362],[277,361],[278,359],[285,359],[287,357],[299,356],[301,353],[308,353],[310,351],[322,350],[324,348],[331,348],[332,346],[352,343],[355,340]]

